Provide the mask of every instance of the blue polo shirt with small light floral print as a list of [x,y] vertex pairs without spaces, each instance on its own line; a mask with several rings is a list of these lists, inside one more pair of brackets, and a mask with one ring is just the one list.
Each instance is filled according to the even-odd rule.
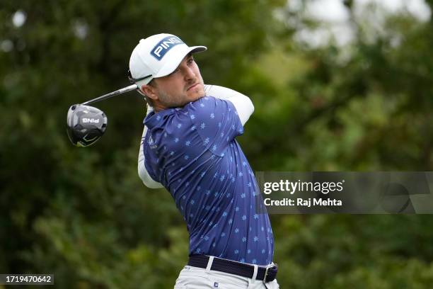
[[243,133],[230,101],[204,96],[149,113],[145,166],[171,193],[190,233],[190,255],[267,265],[273,237],[260,190],[235,137]]

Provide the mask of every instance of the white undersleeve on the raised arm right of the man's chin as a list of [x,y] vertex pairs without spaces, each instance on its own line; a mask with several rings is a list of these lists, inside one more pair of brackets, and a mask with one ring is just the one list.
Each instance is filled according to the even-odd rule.
[[216,98],[230,101],[238,112],[242,125],[245,125],[250,115],[254,112],[253,102],[248,96],[245,96],[233,89],[227,89],[223,86],[204,84],[204,91],[207,96],[214,96]]

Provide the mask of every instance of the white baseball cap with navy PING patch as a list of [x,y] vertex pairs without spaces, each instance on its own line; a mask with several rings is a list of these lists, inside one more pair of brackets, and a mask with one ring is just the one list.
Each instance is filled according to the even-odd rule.
[[141,87],[158,77],[171,74],[188,53],[207,50],[205,46],[189,47],[178,36],[156,34],[140,40],[129,58],[129,80]]

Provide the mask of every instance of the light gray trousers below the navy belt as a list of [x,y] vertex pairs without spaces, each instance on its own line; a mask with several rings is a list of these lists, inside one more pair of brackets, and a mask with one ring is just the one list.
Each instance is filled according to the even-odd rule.
[[[277,280],[264,283],[262,280],[255,280],[237,276],[229,273],[210,270],[212,259],[209,259],[207,268],[185,266],[180,271],[179,278],[176,280],[175,289],[278,289]],[[256,266],[257,268],[257,266]],[[257,274],[257,270],[255,271]]]

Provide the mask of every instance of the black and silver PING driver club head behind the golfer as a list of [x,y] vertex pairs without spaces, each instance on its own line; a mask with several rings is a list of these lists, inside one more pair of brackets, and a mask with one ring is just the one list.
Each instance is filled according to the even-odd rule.
[[74,104],[67,115],[67,133],[76,147],[88,147],[102,137],[107,129],[105,113],[93,106]]

